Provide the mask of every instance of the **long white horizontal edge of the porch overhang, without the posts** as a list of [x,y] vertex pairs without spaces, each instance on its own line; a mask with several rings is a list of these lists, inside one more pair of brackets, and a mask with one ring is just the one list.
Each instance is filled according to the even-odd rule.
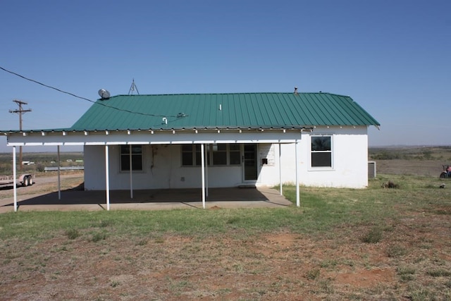
[[5,133],[8,146],[171,145],[203,143],[293,143],[311,128],[203,128],[193,130],[41,130]]

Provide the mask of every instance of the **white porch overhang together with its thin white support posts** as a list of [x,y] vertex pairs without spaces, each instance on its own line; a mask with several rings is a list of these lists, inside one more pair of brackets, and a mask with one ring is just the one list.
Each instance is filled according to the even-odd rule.
[[[56,146],[58,158],[61,146],[104,146],[105,148],[105,179],[106,179],[106,208],[110,209],[109,189],[109,146],[112,145],[185,145],[196,144],[202,147],[202,204],[205,208],[208,185],[206,185],[206,164],[204,146],[214,143],[230,144],[295,144],[296,166],[296,194],[299,207],[299,171],[297,153],[303,131],[311,132],[312,128],[190,128],[190,129],[158,129],[158,130],[27,130],[2,132],[7,137],[7,145],[13,147],[13,159],[16,159],[16,147]],[[131,152],[131,149],[130,149]],[[131,160],[131,153],[130,153]],[[279,159],[280,160],[280,159]],[[59,166],[58,159],[58,166]],[[130,164],[131,166],[131,164]],[[280,168],[280,167],[279,167]],[[13,164],[16,175],[16,164]],[[58,169],[58,175],[60,171]],[[279,171],[281,174],[281,171]],[[61,198],[60,180],[58,176],[58,197]],[[280,181],[280,193],[282,185]],[[132,171],[130,170],[130,197],[132,198]],[[16,189],[14,189],[15,211],[17,210]]]

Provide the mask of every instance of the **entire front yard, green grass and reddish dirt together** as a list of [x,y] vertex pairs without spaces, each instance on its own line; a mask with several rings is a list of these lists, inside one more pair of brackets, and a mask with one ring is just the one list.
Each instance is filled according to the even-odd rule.
[[450,300],[451,180],[415,162],[300,208],[0,214],[0,300]]

